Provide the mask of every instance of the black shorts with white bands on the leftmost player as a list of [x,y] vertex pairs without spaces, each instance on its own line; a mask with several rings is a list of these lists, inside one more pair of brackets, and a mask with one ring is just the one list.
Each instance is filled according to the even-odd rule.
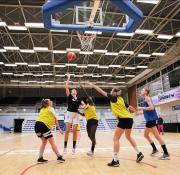
[[44,137],[45,139],[53,137],[51,130],[43,122],[36,122],[34,129],[38,137]]

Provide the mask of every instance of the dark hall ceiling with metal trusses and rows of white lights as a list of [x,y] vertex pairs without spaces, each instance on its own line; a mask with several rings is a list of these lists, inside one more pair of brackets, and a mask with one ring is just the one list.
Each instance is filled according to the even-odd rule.
[[[93,53],[85,55],[79,52],[82,50],[75,31],[49,31],[43,27],[41,8],[45,0],[0,0],[1,85],[62,86],[65,74],[69,72],[74,85],[90,80],[103,87],[126,87],[146,69],[158,68],[165,52],[179,40],[180,1],[160,0],[157,4],[137,1],[133,2],[144,14],[140,30],[132,36],[97,34]],[[101,6],[106,23],[122,25],[124,15],[109,1],[102,1]],[[75,9],[70,8],[61,20],[73,23],[74,15]],[[27,27],[25,23],[40,23],[40,26]],[[25,30],[14,30],[13,26],[25,26]],[[142,30],[150,33],[142,34]],[[36,47],[43,48],[38,51]],[[77,59],[70,65],[66,58],[67,48],[79,49],[76,51]]]

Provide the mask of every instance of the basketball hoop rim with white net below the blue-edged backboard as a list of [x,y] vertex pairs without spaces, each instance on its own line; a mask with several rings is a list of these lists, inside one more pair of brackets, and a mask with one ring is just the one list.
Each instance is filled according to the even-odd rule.
[[77,31],[77,36],[81,42],[81,49],[83,51],[90,51],[93,48],[93,41],[96,38],[95,34],[81,34],[79,31]]

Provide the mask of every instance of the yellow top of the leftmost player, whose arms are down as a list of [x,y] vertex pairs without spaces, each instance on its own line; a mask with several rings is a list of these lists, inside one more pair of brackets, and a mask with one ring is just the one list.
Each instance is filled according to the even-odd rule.
[[51,129],[56,121],[56,114],[54,108],[42,108],[36,121],[43,122],[49,129]]

